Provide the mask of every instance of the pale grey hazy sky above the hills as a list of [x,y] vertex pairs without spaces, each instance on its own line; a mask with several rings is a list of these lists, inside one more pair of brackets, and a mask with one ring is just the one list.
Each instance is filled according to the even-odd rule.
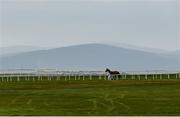
[[0,0],[0,46],[117,42],[180,49],[179,7],[178,0]]

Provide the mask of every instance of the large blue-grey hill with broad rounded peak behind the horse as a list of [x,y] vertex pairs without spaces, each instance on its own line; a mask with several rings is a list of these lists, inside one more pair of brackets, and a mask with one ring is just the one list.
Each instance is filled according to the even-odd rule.
[[0,58],[0,68],[58,68],[60,70],[179,70],[176,56],[105,44],[83,44],[38,50]]

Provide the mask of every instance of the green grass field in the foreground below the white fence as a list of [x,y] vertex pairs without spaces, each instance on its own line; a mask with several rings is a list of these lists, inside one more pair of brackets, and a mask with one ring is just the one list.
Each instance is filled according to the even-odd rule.
[[1,82],[0,115],[180,115],[180,79]]

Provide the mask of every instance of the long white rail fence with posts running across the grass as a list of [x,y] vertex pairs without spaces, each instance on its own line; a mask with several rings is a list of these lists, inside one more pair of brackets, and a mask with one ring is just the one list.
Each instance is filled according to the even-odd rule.
[[154,74],[120,74],[112,75],[111,79],[106,74],[0,74],[0,82],[13,81],[58,81],[58,80],[156,80],[180,79],[180,73],[154,73]]

